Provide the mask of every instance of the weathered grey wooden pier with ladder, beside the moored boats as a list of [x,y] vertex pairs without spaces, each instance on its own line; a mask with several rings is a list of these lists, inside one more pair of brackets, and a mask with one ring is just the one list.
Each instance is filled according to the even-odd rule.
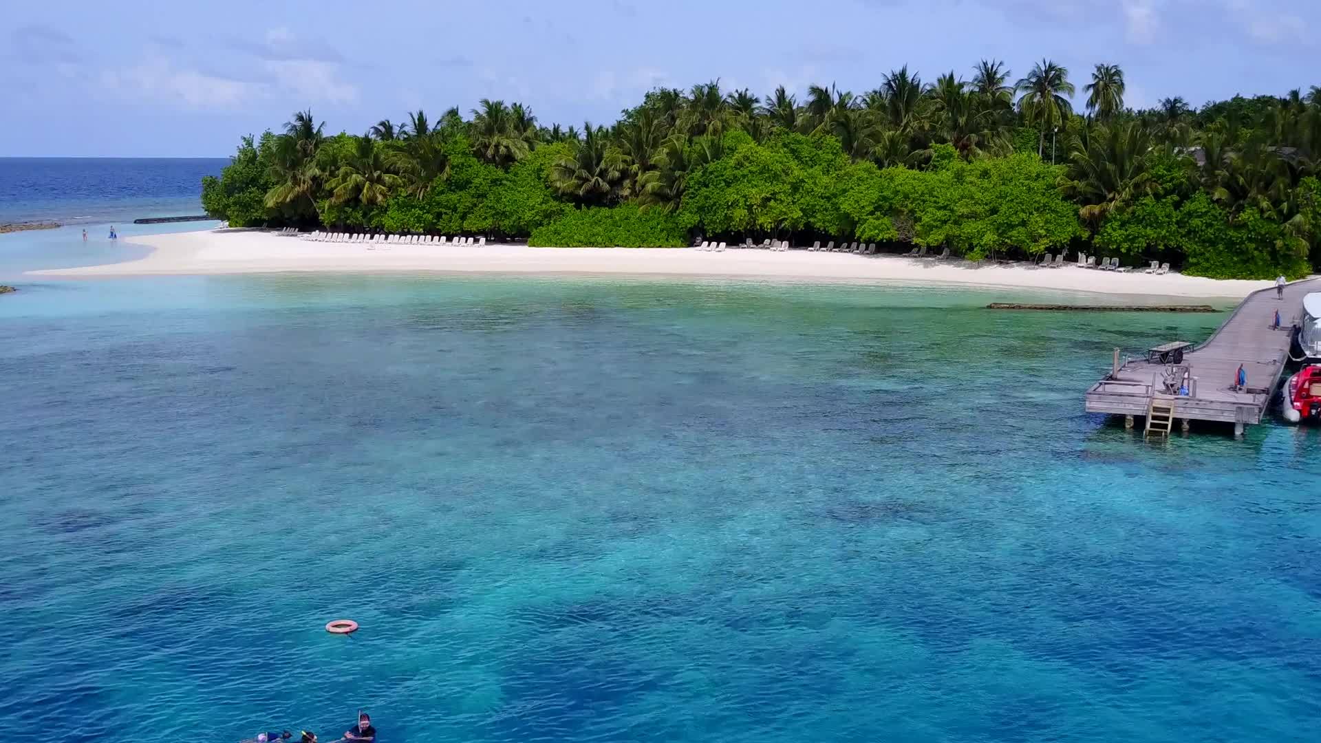
[[[1267,415],[1303,316],[1303,296],[1313,291],[1321,291],[1321,282],[1288,284],[1283,301],[1273,287],[1252,292],[1202,344],[1165,344],[1141,360],[1122,360],[1116,349],[1110,374],[1087,390],[1087,412],[1123,415],[1128,427],[1135,416],[1147,418],[1148,434],[1155,419],[1164,427],[1157,432],[1168,432],[1173,420],[1185,430],[1189,420],[1213,420],[1232,423],[1242,435]],[[1243,387],[1235,385],[1239,365],[1247,375]]]

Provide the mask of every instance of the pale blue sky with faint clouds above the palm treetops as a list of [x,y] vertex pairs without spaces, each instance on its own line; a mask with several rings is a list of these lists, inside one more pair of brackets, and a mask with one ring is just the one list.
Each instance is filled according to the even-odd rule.
[[581,128],[660,85],[802,98],[982,58],[1053,59],[1079,107],[1098,62],[1129,106],[1199,106],[1321,85],[1318,38],[1318,0],[28,0],[0,19],[0,156],[227,156],[296,110],[359,134],[482,98]]

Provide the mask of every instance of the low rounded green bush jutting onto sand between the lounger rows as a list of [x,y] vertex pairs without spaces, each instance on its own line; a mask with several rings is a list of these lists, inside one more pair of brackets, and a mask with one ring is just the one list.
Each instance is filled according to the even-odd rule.
[[572,209],[532,230],[528,245],[547,247],[683,247],[688,231],[674,214],[637,204]]

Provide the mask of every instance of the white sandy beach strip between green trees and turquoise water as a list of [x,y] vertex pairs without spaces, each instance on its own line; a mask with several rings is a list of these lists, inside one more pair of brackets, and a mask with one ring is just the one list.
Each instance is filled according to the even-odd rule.
[[935,283],[988,288],[1073,291],[1103,295],[1143,295],[1240,299],[1271,282],[1215,280],[1170,274],[1118,274],[1066,266],[983,264],[960,260],[913,259],[898,255],[863,256],[844,253],[793,250],[690,249],[557,249],[520,245],[449,247],[428,245],[369,246],[326,243],[251,230],[202,230],[132,238],[152,249],[137,260],[32,271],[32,275],[100,278],[149,275],[225,275],[273,272],[446,272],[446,274],[564,274],[674,278],[725,278],[789,282]]

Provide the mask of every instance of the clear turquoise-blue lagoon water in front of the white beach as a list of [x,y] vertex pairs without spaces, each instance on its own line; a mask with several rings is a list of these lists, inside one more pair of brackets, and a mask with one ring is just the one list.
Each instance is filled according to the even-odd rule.
[[[177,227],[174,227],[177,229]],[[34,280],[0,719],[67,742],[1314,740],[1321,434],[1082,411],[1223,315],[958,288]],[[1061,299],[1034,295],[1042,299]],[[361,629],[332,636],[332,619]]]

